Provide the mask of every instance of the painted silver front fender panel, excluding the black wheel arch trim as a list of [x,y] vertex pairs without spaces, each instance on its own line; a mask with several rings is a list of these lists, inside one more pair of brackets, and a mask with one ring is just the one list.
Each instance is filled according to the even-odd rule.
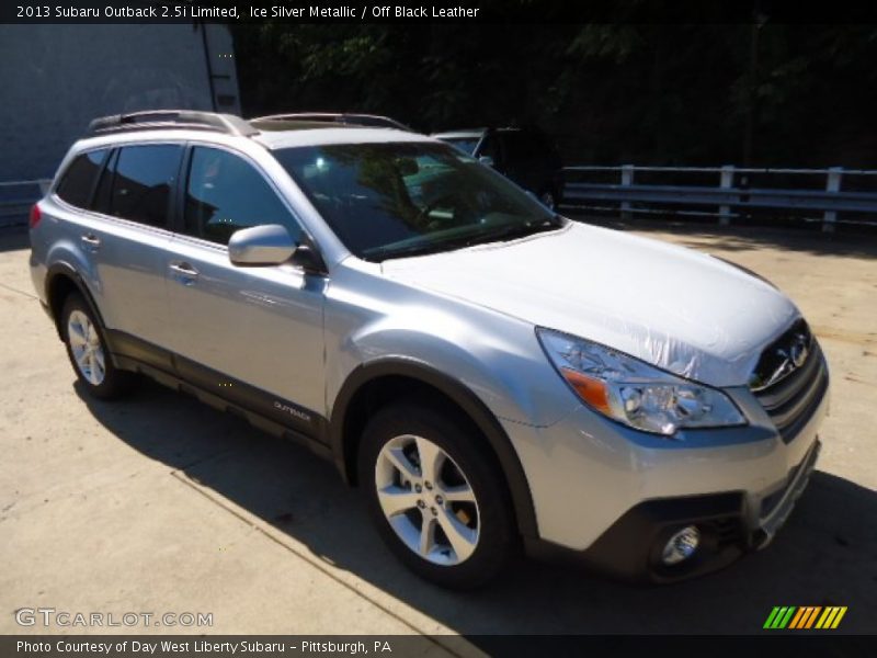
[[[391,287],[401,287],[390,284]],[[428,293],[424,293],[428,294]],[[327,308],[327,409],[361,365],[411,361],[457,381],[498,418],[548,427],[577,400],[546,359],[532,325],[434,296],[388,291],[383,304]],[[387,299],[392,299],[387,304]]]

